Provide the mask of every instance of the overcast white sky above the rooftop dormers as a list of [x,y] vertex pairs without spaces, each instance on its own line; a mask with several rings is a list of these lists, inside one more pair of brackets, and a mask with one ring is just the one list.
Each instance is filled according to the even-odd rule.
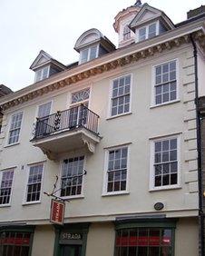
[[[90,28],[99,29],[117,45],[114,16],[135,0],[0,0],[0,84],[17,91],[33,84],[29,69],[43,49],[63,64],[78,60],[77,38]],[[190,9],[205,0],[147,0],[173,23],[186,19]]]

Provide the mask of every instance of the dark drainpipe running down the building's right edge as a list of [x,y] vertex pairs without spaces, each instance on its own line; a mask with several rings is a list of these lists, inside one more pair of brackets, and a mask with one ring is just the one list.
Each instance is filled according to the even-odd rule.
[[200,222],[200,255],[204,256],[204,212],[203,212],[203,190],[202,190],[202,158],[201,158],[201,123],[199,110],[199,79],[198,79],[198,51],[197,45],[190,34],[190,42],[193,46],[194,74],[195,74],[195,105],[197,124],[197,151],[198,151],[198,183],[199,183],[199,222]]

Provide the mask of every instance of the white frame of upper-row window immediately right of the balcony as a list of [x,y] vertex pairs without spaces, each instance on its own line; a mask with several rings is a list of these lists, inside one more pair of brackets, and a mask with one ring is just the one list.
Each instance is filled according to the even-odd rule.
[[[113,81],[117,80],[117,79],[121,79],[122,77],[125,77],[125,76],[128,76],[128,75],[131,76],[130,109],[126,113],[119,113],[119,114],[112,115],[112,84],[113,84]],[[117,77],[112,78],[112,80],[110,81],[110,92],[109,92],[109,103],[108,103],[107,119],[112,119],[112,118],[115,118],[115,117],[118,117],[118,116],[123,116],[123,115],[132,113],[132,84],[133,84],[133,75],[132,75],[132,73],[130,73],[130,74],[123,74],[121,76],[117,76]]]

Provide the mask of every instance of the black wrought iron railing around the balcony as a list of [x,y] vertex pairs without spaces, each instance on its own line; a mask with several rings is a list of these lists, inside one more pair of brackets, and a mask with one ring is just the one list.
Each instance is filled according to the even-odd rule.
[[64,111],[37,118],[34,127],[34,139],[41,139],[55,133],[85,128],[98,134],[99,115],[93,113],[84,105],[79,105]]

